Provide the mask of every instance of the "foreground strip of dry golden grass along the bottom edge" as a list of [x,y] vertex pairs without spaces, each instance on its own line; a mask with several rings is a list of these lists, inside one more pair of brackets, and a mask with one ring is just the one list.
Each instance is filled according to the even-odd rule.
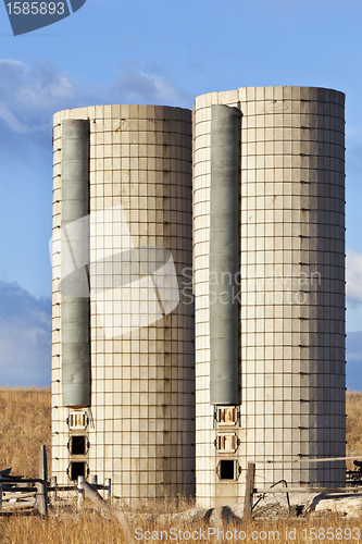
[[[217,528],[211,528],[211,531],[215,531],[215,533],[208,534],[208,526],[201,522],[178,527],[160,527],[157,523],[149,523],[146,527],[139,520],[133,526],[132,534],[134,542],[142,543],[228,542],[236,544],[248,541],[301,544],[312,541],[320,542],[321,540],[329,542],[345,542],[347,540],[358,543],[361,542],[361,539],[358,537],[361,534],[361,521],[362,518],[349,520],[341,516],[326,515],[319,519],[289,518],[275,521],[233,522],[227,527],[220,528],[217,537]],[[327,530],[329,531],[328,539]],[[146,539],[141,536],[146,536]],[[123,537],[117,521],[113,518],[104,518],[91,510],[53,514],[47,519],[39,517],[0,518],[0,542],[1,544],[129,544]]]

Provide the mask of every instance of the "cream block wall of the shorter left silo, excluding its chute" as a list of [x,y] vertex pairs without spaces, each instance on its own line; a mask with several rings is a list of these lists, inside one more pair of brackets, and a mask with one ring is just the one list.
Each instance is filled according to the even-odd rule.
[[[61,400],[62,300],[57,282],[64,119],[89,119],[90,124],[89,478],[97,474],[99,483],[111,478],[114,495],[130,500],[163,497],[165,492],[192,495],[191,112],[180,108],[115,104],[54,115],[53,474],[68,482],[72,461],[66,447],[72,410]],[[128,286],[114,285],[124,265],[116,256],[125,248],[127,265],[137,270],[129,269]],[[165,250],[160,257],[152,248]],[[146,262],[145,255],[154,262]],[[110,297],[112,287],[116,294],[127,287],[132,299]],[[145,306],[146,287],[154,297],[148,295]],[[127,323],[136,325],[127,329]]]

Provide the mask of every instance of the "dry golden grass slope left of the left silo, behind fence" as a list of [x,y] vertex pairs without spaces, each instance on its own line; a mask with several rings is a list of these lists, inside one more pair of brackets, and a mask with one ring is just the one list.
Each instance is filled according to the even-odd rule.
[[50,387],[0,388],[0,470],[38,478],[39,449],[46,444],[48,467],[51,446]]

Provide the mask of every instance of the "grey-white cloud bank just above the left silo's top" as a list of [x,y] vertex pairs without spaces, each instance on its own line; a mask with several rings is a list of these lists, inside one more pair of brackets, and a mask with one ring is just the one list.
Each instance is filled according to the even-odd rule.
[[79,83],[52,61],[0,59],[0,120],[14,135],[50,134],[59,110],[120,102],[190,107],[192,96],[159,69],[140,67],[136,61],[122,65],[115,82],[105,87]]

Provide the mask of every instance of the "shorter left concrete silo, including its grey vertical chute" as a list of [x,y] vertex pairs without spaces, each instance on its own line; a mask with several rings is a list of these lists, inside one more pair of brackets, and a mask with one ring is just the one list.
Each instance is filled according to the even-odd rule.
[[52,472],[192,495],[191,112],[65,110],[53,143]]

